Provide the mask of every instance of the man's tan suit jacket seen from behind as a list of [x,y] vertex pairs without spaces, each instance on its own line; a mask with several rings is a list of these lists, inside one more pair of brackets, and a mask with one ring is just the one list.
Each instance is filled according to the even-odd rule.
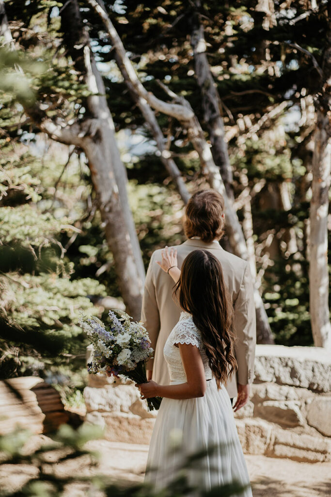
[[[210,244],[189,239],[177,248],[178,266],[197,248],[210,250],[220,261],[225,285],[234,304],[234,328],[237,335],[235,355],[238,363],[237,379],[226,385],[230,397],[237,395],[237,381],[242,385],[253,382],[256,345],[256,317],[253,282],[248,262],[224,250],[217,241]],[[144,323],[154,348],[154,359],[147,369],[153,369],[152,379],[161,385],[169,384],[167,363],[163,357],[164,344],[179,320],[181,309],[172,298],[173,279],[156,261],[161,261],[161,250],[155,250],[146,274],[141,321]]]

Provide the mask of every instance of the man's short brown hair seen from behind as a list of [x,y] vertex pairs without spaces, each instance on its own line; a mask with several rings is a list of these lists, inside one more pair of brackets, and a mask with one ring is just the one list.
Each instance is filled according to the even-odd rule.
[[198,191],[190,198],[185,215],[187,238],[200,237],[203,242],[220,240],[224,234],[224,199],[215,190]]

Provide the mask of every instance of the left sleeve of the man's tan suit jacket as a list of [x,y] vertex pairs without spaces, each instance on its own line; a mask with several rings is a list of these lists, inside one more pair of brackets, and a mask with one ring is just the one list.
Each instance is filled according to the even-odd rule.
[[[155,284],[153,281],[153,270],[155,264],[154,253],[151,256],[146,273],[144,294],[142,298],[141,321],[148,331],[151,345],[155,353],[156,342],[160,331],[160,316],[156,302]],[[153,369],[153,361],[154,359],[149,359],[147,361],[147,369]]]

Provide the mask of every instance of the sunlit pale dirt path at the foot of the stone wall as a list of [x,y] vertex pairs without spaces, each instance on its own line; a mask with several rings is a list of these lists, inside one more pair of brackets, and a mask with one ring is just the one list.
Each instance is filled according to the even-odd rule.
[[[99,440],[89,448],[102,453],[99,471],[116,479],[142,481],[148,445]],[[331,464],[245,456],[254,497],[330,497]]]

